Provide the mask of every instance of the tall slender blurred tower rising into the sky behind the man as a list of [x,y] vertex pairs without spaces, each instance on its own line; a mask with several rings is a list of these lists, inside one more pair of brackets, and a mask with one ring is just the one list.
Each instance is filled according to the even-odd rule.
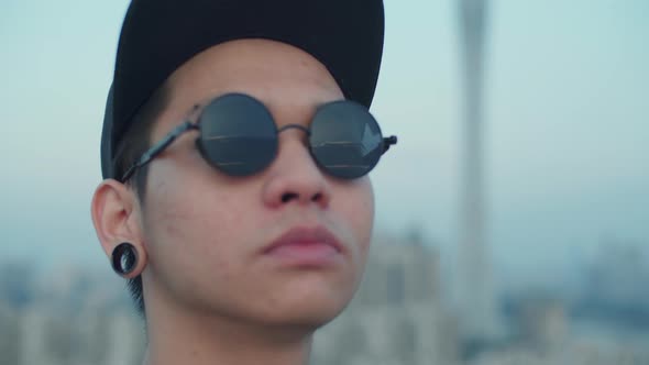
[[463,166],[458,289],[463,336],[486,340],[495,331],[495,295],[487,248],[483,174],[483,64],[487,0],[459,0],[463,62]]

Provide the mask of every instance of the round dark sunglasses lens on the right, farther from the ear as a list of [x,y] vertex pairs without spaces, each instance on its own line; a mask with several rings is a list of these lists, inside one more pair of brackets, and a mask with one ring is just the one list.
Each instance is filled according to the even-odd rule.
[[378,123],[365,107],[352,101],[336,101],[318,109],[309,139],[318,165],[339,178],[366,175],[383,153]]

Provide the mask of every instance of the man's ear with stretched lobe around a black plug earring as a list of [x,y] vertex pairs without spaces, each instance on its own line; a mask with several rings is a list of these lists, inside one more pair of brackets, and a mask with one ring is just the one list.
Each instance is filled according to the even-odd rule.
[[132,272],[122,276],[132,278],[140,275],[146,266],[147,257],[135,191],[114,179],[106,179],[95,190],[90,209],[97,237],[108,259],[112,263],[114,248],[128,242],[135,248],[138,259]]

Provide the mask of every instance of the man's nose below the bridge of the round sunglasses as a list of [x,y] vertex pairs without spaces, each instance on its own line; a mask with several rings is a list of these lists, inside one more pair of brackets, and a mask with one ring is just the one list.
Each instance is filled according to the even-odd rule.
[[264,185],[264,202],[272,208],[287,204],[317,204],[327,208],[331,187],[309,153],[306,131],[286,130],[279,134],[277,156]]

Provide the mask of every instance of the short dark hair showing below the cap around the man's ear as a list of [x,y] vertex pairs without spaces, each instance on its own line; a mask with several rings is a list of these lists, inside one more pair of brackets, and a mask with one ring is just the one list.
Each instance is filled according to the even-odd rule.
[[[114,176],[120,179],[124,173],[133,166],[138,159],[151,147],[151,132],[155,121],[160,118],[162,111],[167,107],[169,100],[169,87],[167,82],[163,84],[151,98],[140,108],[131,126],[127,130],[123,137],[117,145],[113,159]],[[148,165],[144,165],[131,176],[128,181],[123,181],[135,190],[140,204],[144,206],[144,196],[146,191],[146,176]],[[142,276],[129,279],[128,290],[133,298],[135,308],[141,314],[144,314],[144,297],[142,292]]]

